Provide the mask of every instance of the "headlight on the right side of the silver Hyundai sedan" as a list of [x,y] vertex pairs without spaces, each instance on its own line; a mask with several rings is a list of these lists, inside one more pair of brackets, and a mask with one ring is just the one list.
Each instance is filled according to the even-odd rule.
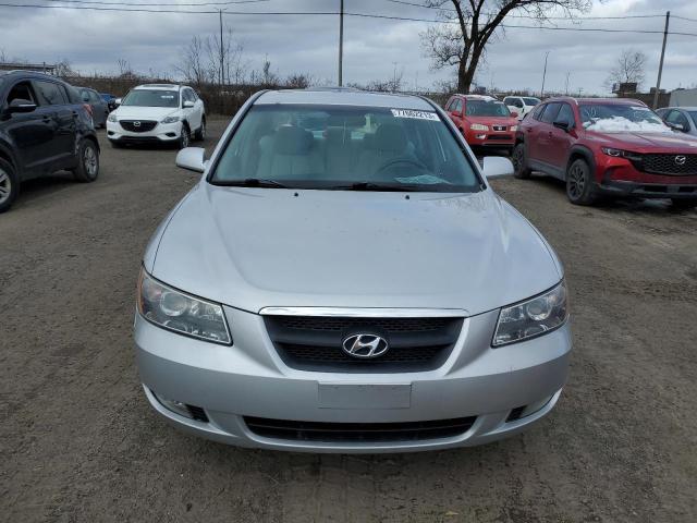
[[543,335],[563,325],[567,317],[566,285],[562,281],[545,294],[503,307],[491,345],[505,345]]

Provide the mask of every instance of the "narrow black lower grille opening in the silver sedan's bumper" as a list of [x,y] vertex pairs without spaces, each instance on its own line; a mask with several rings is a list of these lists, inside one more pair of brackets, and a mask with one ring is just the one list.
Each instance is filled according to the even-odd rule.
[[476,416],[405,423],[320,423],[245,416],[257,436],[291,441],[399,442],[451,438],[465,434]]

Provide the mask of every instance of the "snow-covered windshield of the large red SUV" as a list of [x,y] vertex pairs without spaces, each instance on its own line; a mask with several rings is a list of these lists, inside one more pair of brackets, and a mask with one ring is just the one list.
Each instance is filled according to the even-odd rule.
[[643,131],[653,133],[672,132],[658,114],[646,106],[624,104],[586,104],[578,107],[583,126],[589,131],[621,133]]

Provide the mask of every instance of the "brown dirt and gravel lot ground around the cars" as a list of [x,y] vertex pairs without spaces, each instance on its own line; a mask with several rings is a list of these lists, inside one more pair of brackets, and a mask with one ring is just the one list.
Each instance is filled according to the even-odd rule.
[[100,139],[97,182],[27,183],[0,216],[4,521],[695,521],[697,211],[496,181],[565,265],[575,346],[554,412],[470,449],[245,450],[166,425],[134,364],[140,255],[198,175]]

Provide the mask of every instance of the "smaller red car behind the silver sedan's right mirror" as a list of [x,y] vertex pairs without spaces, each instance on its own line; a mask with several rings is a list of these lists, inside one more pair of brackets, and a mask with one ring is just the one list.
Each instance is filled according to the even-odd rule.
[[472,148],[513,150],[518,115],[502,101],[482,95],[453,95],[445,111]]

